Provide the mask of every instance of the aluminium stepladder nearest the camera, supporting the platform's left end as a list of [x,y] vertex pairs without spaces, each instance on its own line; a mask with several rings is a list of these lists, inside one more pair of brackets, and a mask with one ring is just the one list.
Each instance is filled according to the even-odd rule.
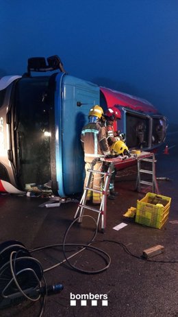
[[[91,164],[91,169],[88,169],[88,172],[89,172],[88,180],[86,183],[86,187],[84,187],[84,193],[81,197],[81,200],[79,202],[79,205],[78,205],[78,208],[77,208],[77,211],[75,213],[74,218],[78,217],[79,218],[78,222],[81,223],[82,222],[82,215],[84,214],[84,209],[88,209],[90,211],[97,212],[98,213],[97,228],[99,228],[99,220],[101,219],[101,231],[104,232],[105,227],[106,227],[107,190],[108,190],[108,187],[110,185],[110,177],[112,174],[112,163],[110,163],[110,165],[108,165],[107,172],[99,172],[97,170],[94,170],[94,165],[97,164],[97,162],[99,162],[99,161],[93,160],[92,164]],[[98,190],[98,189],[90,188],[90,183],[92,181],[92,174],[93,173],[103,175],[103,178],[104,178],[103,189]],[[99,209],[94,208],[94,207],[90,206],[89,204],[86,204],[88,190],[93,191],[95,193],[102,194],[101,204],[99,206]]]

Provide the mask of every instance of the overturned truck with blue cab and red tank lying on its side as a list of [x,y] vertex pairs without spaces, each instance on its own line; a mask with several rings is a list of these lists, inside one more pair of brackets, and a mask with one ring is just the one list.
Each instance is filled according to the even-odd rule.
[[[31,75],[31,72],[52,75]],[[0,80],[0,191],[34,186],[59,196],[84,183],[81,128],[94,104],[118,108],[116,130],[129,149],[151,151],[166,137],[166,118],[147,100],[75,78],[58,56],[29,58],[27,73]],[[120,168],[120,165],[119,165]]]

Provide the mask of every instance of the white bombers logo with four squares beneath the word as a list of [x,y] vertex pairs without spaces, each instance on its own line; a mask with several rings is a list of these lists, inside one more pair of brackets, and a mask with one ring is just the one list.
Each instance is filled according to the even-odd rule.
[[79,303],[81,306],[97,306],[98,301],[101,301],[102,306],[107,306],[107,294],[70,294],[71,306],[76,306]]

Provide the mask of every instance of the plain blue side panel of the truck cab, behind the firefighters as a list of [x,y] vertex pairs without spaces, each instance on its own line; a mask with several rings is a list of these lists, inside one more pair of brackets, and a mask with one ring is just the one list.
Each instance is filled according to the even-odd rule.
[[[88,122],[88,113],[99,104],[99,86],[74,78],[62,78],[62,91],[56,95],[56,169],[58,193],[67,196],[79,193],[84,185],[84,154],[81,148],[81,128]],[[62,99],[61,97],[62,96]],[[77,106],[77,102],[81,106]],[[59,124],[59,130],[57,128]]]

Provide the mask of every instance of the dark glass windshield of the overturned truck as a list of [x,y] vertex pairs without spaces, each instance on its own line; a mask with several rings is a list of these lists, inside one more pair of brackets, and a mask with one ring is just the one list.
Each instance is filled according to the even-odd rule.
[[22,188],[51,180],[53,102],[47,98],[48,86],[47,77],[22,78],[16,85],[16,165]]

